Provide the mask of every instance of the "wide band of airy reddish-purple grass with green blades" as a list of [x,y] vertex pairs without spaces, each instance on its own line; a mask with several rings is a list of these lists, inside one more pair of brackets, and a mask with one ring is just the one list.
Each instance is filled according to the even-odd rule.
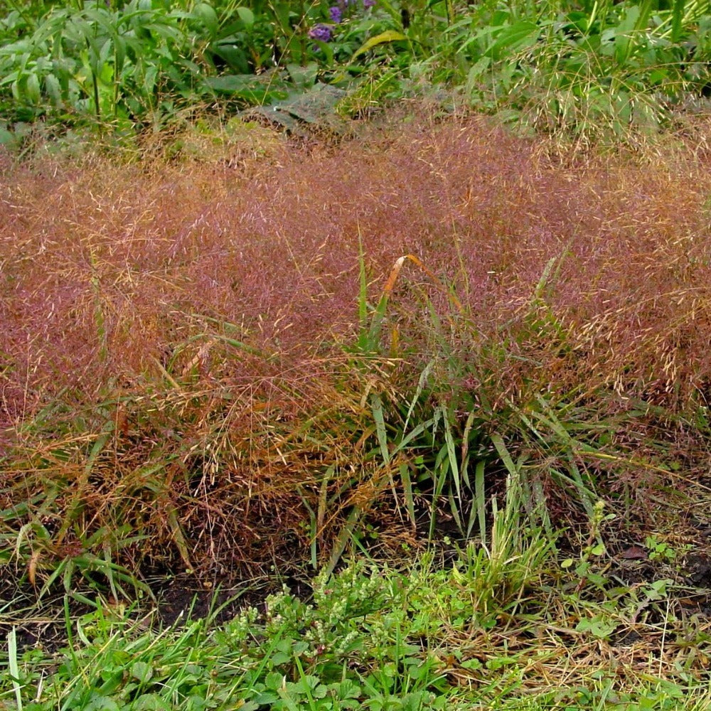
[[589,507],[633,400],[705,405],[706,154],[561,162],[470,118],[285,148],[6,165],[2,525],[37,582],[68,550],[316,562],[387,497],[412,542],[418,497],[463,514],[522,437]]

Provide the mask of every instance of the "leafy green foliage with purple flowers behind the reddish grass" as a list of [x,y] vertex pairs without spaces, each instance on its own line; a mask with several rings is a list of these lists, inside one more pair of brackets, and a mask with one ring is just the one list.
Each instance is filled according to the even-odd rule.
[[[327,82],[367,99],[423,85],[585,136],[653,131],[709,92],[705,0],[9,0],[0,117],[90,117],[123,131],[183,108],[284,100]],[[10,126],[11,127],[11,126]],[[7,134],[6,139],[8,139]]]

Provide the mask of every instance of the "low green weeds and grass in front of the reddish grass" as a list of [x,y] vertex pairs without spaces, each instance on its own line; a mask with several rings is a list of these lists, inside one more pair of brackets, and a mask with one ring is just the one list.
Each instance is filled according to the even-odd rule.
[[[316,576],[309,601],[284,589],[263,611],[246,607],[223,624],[188,619],[153,629],[150,616],[136,621],[137,611],[97,601],[78,619],[66,616],[68,646],[54,656],[21,651],[11,629],[0,702],[33,711],[704,708],[708,636],[683,651],[672,641],[682,621],[669,619],[665,635],[675,664],[686,660],[683,675],[678,668],[656,680],[648,668],[629,668],[620,677],[624,657],[607,656],[611,639],[634,624],[651,651],[656,624],[629,616],[631,598],[596,608],[560,597],[542,577],[552,550],[538,536],[518,555],[502,545],[470,545],[451,567],[432,554],[408,570],[360,560]],[[640,609],[668,591],[653,584],[638,596]],[[655,672],[671,662],[666,656]]]

